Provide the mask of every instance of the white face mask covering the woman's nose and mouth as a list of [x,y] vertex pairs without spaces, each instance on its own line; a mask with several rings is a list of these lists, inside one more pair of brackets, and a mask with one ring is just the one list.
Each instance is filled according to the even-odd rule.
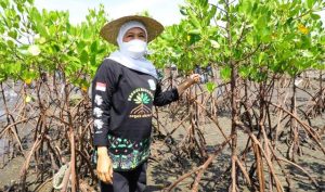
[[143,57],[146,53],[146,42],[140,39],[133,39],[129,42],[122,42],[120,44],[120,52],[127,54],[132,59]]

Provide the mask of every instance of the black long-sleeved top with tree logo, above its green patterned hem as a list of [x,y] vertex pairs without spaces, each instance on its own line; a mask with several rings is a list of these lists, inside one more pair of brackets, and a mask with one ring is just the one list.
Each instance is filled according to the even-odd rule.
[[179,99],[177,89],[161,92],[157,79],[106,59],[92,82],[94,145],[107,136],[142,141],[152,131],[152,107]]

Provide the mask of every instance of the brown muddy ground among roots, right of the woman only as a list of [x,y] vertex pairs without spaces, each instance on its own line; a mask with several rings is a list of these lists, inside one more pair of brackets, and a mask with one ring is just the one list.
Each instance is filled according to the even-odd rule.
[[[231,130],[231,121],[227,116],[220,117],[220,124],[223,125],[226,129],[226,135]],[[318,117],[316,119],[318,125],[325,125],[325,116]],[[212,124],[206,125],[203,127],[203,131],[206,136],[207,148],[213,148],[217,144],[220,144],[224,141],[224,138],[221,133],[216,130],[216,126]],[[179,133],[179,136],[184,136]],[[239,151],[244,150],[247,142],[247,136],[239,131],[238,132],[238,146]],[[322,137],[322,144],[325,144],[325,136]],[[177,145],[177,144],[176,144]],[[282,153],[284,156],[287,151],[287,145],[285,142],[280,142],[278,153]],[[303,156],[297,158],[297,164],[303,167],[321,185],[321,190],[325,191],[325,155],[320,151],[312,149],[309,144],[304,143],[302,146]],[[186,158],[177,158],[174,153],[172,153],[161,141],[157,141],[153,146],[153,154],[156,154],[156,159],[151,161],[151,166],[148,168],[148,187],[150,191],[161,191],[165,187],[168,187],[174,182],[180,176],[188,172],[193,168],[200,165],[199,163],[194,163]],[[252,154],[251,154],[252,155]],[[249,158],[249,157],[248,157]],[[250,156],[250,161],[252,156]],[[205,171],[199,191],[227,191],[230,171],[224,171],[229,168],[231,161],[231,149],[226,146],[213,161],[211,166]],[[249,161],[248,161],[249,162]],[[265,164],[265,163],[264,163]],[[248,163],[249,165],[249,163]],[[317,191],[315,187],[312,185],[308,177],[297,169],[294,166],[286,165],[289,172],[291,172],[292,187],[295,191]],[[268,172],[266,167],[264,168]],[[281,179],[281,182],[286,187],[286,181],[283,174],[277,169],[277,176]],[[182,181],[174,191],[191,191],[191,184],[195,179],[195,175]],[[266,180],[268,177],[266,177]],[[240,180],[239,183],[243,183]],[[239,191],[249,191],[247,188],[243,187]]]

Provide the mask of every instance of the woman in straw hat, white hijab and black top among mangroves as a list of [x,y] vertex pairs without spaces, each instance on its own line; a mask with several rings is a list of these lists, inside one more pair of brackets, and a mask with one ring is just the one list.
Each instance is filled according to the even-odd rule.
[[103,61],[92,82],[96,171],[102,191],[144,191],[152,132],[152,106],[177,101],[194,74],[177,89],[161,92],[147,42],[164,27],[145,16],[125,16],[106,24],[101,36],[119,47]]

